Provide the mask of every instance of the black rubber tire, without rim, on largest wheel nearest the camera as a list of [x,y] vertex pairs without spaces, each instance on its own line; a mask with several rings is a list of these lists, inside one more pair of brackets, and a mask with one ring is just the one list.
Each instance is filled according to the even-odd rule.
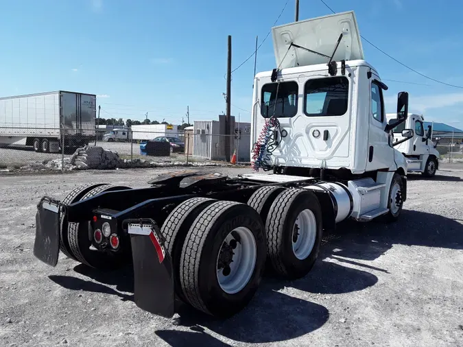
[[[217,257],[228,234],[246,227],[256,241],[256,261],[248,283],[228,294],[217,280]],[[180,259],[180,282],[189,304],[195,309],[228,318],[252,299],[265,265],[265,231],[259,214],[239,202],[219,201],[208,206],[193,222]]]

